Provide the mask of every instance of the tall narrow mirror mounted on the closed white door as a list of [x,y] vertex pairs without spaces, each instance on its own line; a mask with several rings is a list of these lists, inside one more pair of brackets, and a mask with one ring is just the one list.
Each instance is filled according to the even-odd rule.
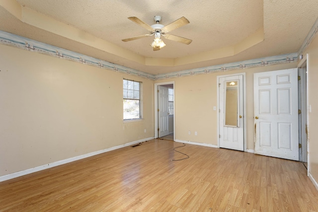
[[239,127],[238,122],[238,80],[228,81],[225,92],[225,126]]

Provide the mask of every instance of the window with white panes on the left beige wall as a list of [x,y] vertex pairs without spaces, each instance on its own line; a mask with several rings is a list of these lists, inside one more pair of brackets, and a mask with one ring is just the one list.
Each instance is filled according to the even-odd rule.
[[141,119],[141,82],[123,81],[124,120]]

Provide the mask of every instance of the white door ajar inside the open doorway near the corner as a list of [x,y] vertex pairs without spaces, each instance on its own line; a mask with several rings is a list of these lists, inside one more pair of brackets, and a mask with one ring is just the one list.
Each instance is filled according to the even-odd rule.
[[168,88],[158,86],[158,137],[169,135]]

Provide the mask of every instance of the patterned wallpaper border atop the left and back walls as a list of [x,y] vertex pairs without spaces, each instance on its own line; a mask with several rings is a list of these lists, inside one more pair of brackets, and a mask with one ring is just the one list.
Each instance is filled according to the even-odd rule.
[[[317,33],[317,30],[315,33]],[[310,38],[313,39],[313,36],[311,36]],[[246,68],[253,68],[253,67],[260,67],[260,66],[270,66],[270,65],[283,64],[283,63],[295,63],[297,62],[297,59],[298,59],[298,53],[291,53],[291,54],[285,54],[285,55],[279,55],[279,56],[258,58],[258,59],[240,61],[240,62],[229,63],[229,64],[222,64],[222,65],[209,66],[209,67],[203,67],[198,69],[175,71],[175,72],[170,72],[165,74],[154,75],[154,74],[146,73],[143,71],[131,69],[125,66],[121,66],[118,64],[110,63],[104,60],[89,57],[89,56],[79,54],[70,50],[66,50],[63,48],[45,44],[36,40],[28,39],[28,38],[15,35],[9,32],[1,31],[1,30],[0,30],[0,44],[16,47],[19,49],[24,49],[31,52],[45,54],[45,55],[49,55],[49,56],[64,59],[64,60],[70,60],[70,61],[78,62],[81,64],[85,64],[85,65],[95,66],[101,69],[119,71],[126,74],[139,76],[142,78],[148,78],[151,80],[191,76],[191,75],[197,75],[197,74],[207,74],[207,73],[220,72],[220,71],[239,70],[239,69],[246,69]]]

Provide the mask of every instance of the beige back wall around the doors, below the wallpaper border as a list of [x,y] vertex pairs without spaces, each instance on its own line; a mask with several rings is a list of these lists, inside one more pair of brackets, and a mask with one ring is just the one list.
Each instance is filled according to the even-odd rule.
[[[165,79],[156,83],[175,81],[175,138],[181,141],[217,145],[217,111],[213,110],[213,106],[217,106],[217,76],[245,72],[247,149],[254,149],[253,73],[296,67],[297,63],[280,64]],[[188,135],[188,131],[191,131],[191,135]],[[198,132],[197,136],[194,135],[195,131]]]

